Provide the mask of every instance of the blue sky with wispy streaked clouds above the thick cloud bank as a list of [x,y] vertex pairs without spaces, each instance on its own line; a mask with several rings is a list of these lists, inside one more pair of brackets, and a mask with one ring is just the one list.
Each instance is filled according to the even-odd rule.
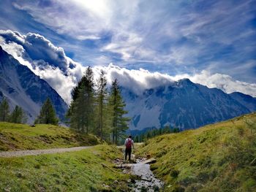
[[256,83],[256,1],[8,1],[0,29],[41,34],[83,66],[202,71]]

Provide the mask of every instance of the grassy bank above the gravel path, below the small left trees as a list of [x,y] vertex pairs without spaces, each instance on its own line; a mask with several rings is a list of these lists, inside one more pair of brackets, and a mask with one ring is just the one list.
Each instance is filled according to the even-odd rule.
[[70,128],[52,125],[29,125],[0,122],[1,150],[35,150],[54,147],[97,145],[98,139]]

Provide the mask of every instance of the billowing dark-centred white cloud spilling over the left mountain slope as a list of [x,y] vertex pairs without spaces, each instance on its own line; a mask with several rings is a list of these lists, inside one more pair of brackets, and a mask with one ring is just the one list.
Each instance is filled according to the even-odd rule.
[[7,53],[46,80],[69,104],[72,88],[83,76],[83,66],[39,34],[0,30],[0,37],[0,45]]

